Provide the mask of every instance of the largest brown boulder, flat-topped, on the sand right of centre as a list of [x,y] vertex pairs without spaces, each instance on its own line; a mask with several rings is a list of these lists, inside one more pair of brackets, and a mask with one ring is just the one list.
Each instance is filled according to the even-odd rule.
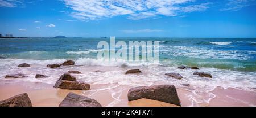
[[180,105],[176,88],[174,85],[139,86],[128,91],[128,100],[141,98],[159,100],[170,104]]

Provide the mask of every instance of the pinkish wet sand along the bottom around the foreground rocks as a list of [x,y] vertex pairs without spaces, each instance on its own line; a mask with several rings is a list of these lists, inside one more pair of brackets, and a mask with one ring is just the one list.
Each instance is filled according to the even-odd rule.
[[[96,99],[102,106],[130,106],[130,107],[176,107],[174,104],[159,102],[150,99],[139,99],[128,102],[127,92],[131,86],[118,84],[91,85],[89,91],[56,89],[52,84],[42,82],[28,82],[16,80],[0,80],[0,100],[14,95],[27,93],[32,106],[45,107],[59,106],[69,92]],[[216,88],[212,91],[215,98],[209,103],[193,104],[187,94],[191,93],[184,88],[177,88],[181,106],[256,106],[256,91],[239,89]]]

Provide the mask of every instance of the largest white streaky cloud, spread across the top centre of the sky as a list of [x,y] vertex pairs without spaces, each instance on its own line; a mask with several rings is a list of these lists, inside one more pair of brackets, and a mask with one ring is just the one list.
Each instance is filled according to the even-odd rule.
[[205,11],[209,3],[196,0],[62,0],[72,8],[71,16],[80,20],[96,20],[127,15],[128,19],[176,16],[188,12]]

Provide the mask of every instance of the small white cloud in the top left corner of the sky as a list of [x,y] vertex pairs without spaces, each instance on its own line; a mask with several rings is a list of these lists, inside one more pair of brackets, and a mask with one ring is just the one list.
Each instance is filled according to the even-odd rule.
[[0,7],[18,7],[24,6],[20,0],[0,0]]

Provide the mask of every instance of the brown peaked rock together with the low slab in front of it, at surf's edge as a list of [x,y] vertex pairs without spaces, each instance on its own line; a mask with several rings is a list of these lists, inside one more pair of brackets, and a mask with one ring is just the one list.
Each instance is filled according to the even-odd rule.
[[89,90],[90,85],[86,82],[76,81],[76,77],[65,73],[60,76],[59,80],[53,86],[55,88],[69,89],[69,90]]

